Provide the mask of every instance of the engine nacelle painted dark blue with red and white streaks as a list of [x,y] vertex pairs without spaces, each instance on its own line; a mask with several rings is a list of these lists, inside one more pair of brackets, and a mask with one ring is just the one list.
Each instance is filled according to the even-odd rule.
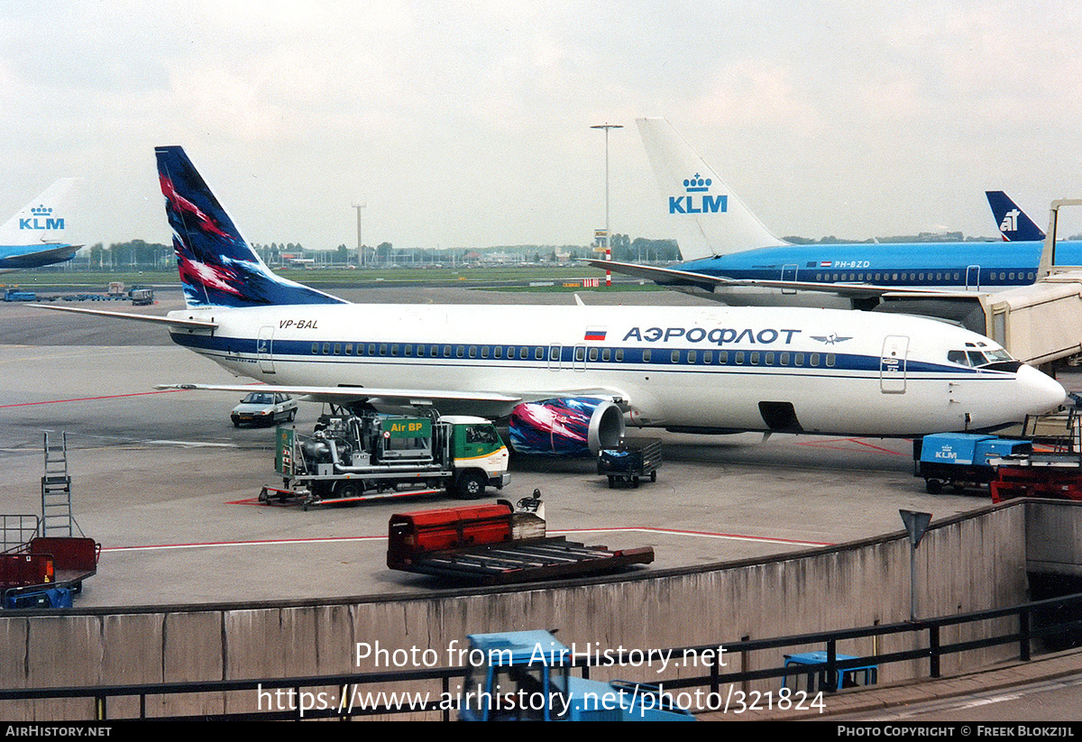
[[623,412],[611,400],[562,397],[523,402],[511,412],[511,447],[519,453],[597,455],[623,436]]

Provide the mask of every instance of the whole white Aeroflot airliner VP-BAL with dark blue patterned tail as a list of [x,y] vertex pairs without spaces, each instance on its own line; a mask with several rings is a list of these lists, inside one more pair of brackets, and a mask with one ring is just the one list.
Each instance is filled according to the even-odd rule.
[[990,340],[908,316],[348,304],[272,273],[184,151],[157,156],[188,308],[120,316],[164,323],[175,343],[273,389],[510,418],[519,450],[567,454],[611,445],[625,421],[916,436],[994,428],[1065,398]]

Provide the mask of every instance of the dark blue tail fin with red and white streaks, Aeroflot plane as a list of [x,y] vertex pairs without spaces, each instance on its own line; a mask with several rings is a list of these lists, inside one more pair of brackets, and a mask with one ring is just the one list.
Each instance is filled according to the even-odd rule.
[[275,275],[240,236],[182,147],[156,147],[155,154],[189,307],[343,303]]

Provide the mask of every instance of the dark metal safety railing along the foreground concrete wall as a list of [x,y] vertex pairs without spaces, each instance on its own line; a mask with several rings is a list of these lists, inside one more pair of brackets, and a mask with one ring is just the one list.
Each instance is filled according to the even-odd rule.
[[[55,612],[51,617],[57,618]],[[950,615],[945,618],[925,619],[888,625],[865,626],[841,631],[819,632],[800,636],[784,636],[766,639],[750,639],[731,642],[714,642],[710,645],[679,647],[672,650],[655,650],[673,652],[683,658],[701,659],[698,666],[703,673],[690,677],[673,677],[662,679],[665,690],[678,691],[699,688],[708,693],[720,693],[724,685],[730,688],[735,684],[783,678],[809,672],[823,672],[827,677],[835,677],[839,671],[883,665],[896,662],[919,661],[921,677],[937,678],[941,675],[941,660],[945,657],[981,648],[1017,645],[1017,658],[1028,662],[1032,654],[1035,639],[1044,636],[1063,637],[1068,634],[1082,635],[1082,594],[1069,595],[1028,602],[1011,608],[976,611],[972,613]],[[1040,626],[1034,625],[1038,617]],[[986,636],[962,641],[945,642],[945,631],[949,627],[964,626],[979,622],[992,622],[992,626],[1002,628],[1003,620],[1011,624],[1005,631],[991,631]],[[914,647],[887,653],[840,658],[837,645],[840,641],[867,637],[887,637],[909,635]],[[750,658],[755,652],[770,651],[777,659],[777,650],[788,647],[824,646],[826,661],[819,665],[804,664],[800,667],[783,667],[780,662],[775,666],[762,670],[725,672],[724,658],[741,658],[741,664],[752,663]],[[724,647],[724,653],[720,648]],[[644,650],[648,651],[648,650]],[[573,657],[572,666],[581,668],[584,677],[590,676],[590,668],[597,665],[610,665],[606,658]],[[686,664],[686,663],[685,663]],[[77,686],[64,688],[27,688],[0,690],[0,701],[34,701],[55,699],[70,703],[74,699],[87,699],[87,717],[93,719],[108,718],[202,718],[202,719],[321,719],[353,718],[365,716],[391,716],[398,714],[428,714],[432,717],[449,719],[454,711],[453,699],[456,690],[451,681],[464,677],[465,667],[433,667],[401,672],[354,673],[328,676],[306,676],[291,678],[250,678],[241,680],[211,680],[200,683],[158,683],[127,686]],[[661,678],[659,678],[661,679]],[[439,691],[433,698],[433,683],[438,681]],[[658,679],[652,680],[657,683]],[[393,684],[394,691],[385,690]],[[426,690],[427,689],[427,690]],[[256,708],[252,710],[251,693],[256,693]],[[458,689],[461,692],[461,688]],[[247,701],[232,701],[230,693],[248,693]],[[844,691],[843,691],[844,692]],[[148,714],[147,699],[168,699],[184,694],[221,697],[220,713],[208,713],[203,702],[197,702],[188,713]],[[124,698],[137,699],[137,712],[110,717],[109,708],[117,704],[133,707],[135,704],[121,702]],[[461,697],[460,697],[461,698]],[[333,703],[329,701],[333,699]],[[169,704],[172,705],[172,704]],[[249,706],[243,711],[228,711],[228,706]],[[198,706],[198,707],[196,707]],[[12,712],[11,707],[8,708]],[[55,718],[55,717],[52,717]]]

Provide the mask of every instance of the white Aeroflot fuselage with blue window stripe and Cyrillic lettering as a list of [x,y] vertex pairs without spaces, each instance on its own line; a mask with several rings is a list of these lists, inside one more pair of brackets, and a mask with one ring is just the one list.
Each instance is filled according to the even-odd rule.
[[171,334],[239,375],[427,392],[449,397],[447,409],[454,393],[506,395],[470,403],[490,415],[523,400],[605,394],[635,425],[916,436],[994,428],[1065,396],[988,339],[909,316],[339,304],[189,308],[169,318],[216,323]]

